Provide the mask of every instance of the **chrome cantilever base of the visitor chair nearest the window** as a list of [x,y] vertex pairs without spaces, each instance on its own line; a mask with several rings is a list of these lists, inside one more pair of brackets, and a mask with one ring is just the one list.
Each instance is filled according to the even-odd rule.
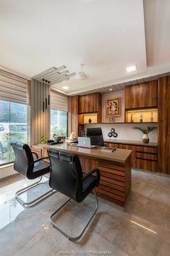
[[56,192],[56,190],[54,189],[50,189],[48,192],[46,192],[45,194],[42,194],[41,197],[36,198],[35,200],[31,201],[31,202],[24,202],[19,196],[20,194],[26,192],[29,189],[32,189],[35,186],[38,186],[38,184],[41,182],[42,180],[42,176],[39,179],[39,181],[36,181],[35,183],[31,184],[30,186],[26,186],[24,189],[20,189],[15,193],[15,198],[17,199],[18,202],[20,202],[20,204],[22,204],[24,207],[31,207],[33,205],[38,204],[38,202],[41,202],[43,199],[45,199],[46,197],[49,197],[51,194],[54,194]]

